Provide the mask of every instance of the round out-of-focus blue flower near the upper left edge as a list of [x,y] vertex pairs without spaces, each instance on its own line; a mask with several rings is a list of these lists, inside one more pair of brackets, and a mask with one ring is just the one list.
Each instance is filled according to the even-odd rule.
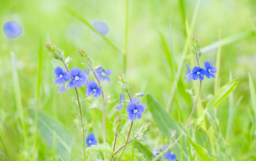
[[3,32],[9,38],[18,38],[22,35],[22,26],[16,21],[7,21],[3,25]]

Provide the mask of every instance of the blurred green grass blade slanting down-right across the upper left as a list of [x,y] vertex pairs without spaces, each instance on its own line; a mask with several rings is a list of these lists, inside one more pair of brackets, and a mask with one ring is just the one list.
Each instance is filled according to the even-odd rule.
[[73,17],[79,19],[80,21],[82,21],[82,23],[84,23],[85,25],[87,25],[87,27],[92,30],[92,32],[96,33],[98,36],[100,36],[100,38],[102,38],[102,40],[104,40],[106,43],[108,43],[110,46],[112,46],[113,48],[115,48],[118,52],[121,52],[121,49],[119,47],[117,47],[117,45],[115,45],[113,42],[111,42],[110,40],[108,40],[108,38],[106,38],[105,36],[103,36],[102,34],[100,34],[100,32],[98,32],[96,29],[94,29],[94,27],[89,23],[89,21],[87,19],[85,19],[84,17],[82,17],[81,15],[79,15],[79,13],[77,13],[75,10],[71,9],[70,7],[68,7],[67,5],[63,5],[63,9],[65,9],[65,11],[69,12],[71,15],[73,15]]

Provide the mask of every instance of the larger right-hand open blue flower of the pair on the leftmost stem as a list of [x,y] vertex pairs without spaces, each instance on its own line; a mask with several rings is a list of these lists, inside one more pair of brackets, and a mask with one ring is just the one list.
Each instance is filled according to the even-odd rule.
[[69,74],[72,77],[72,80],[69,82],[70,88],[82,87],[82,84],[88,80],[88,76],[83,73],[82,69],[77,67],[71,68]]

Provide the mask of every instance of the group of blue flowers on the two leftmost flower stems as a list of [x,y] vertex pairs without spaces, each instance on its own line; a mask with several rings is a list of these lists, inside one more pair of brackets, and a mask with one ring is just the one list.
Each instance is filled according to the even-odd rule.
[[[110,81],[110,79],[106,75],[112,74],[113,73],[112,70],[104,70],[104,68],[102,68],[101,66],[100,66],[100,69],[97,69],[97,70],[102,71],[102,72],[98,72],[97,77],[99,80]],[[102,89],[99,87],[99,85],[94,80],[88,81],[90,76],[89,69],[88,70],[84,69],[84,72],[83,72],[82,69],[74,67],[74,68],[71,68],[71,70],[69,71],[64,71],[63,68],[61,68],[61,66],[57,66],[55,68],[55,74],[56,74],[56,77],[54,79],[55,84],[61,85],[61,87],[59,87],[58,93],[63,93],[63,91],[67,92],[69,88],[75,88],[75,87],[79,88],[84,86],[84,87],[87,87],[86,89],[87,97],[91,95],[92,97],[101,96]],[[69,83],[67,83],[67,81],[69,81]]]

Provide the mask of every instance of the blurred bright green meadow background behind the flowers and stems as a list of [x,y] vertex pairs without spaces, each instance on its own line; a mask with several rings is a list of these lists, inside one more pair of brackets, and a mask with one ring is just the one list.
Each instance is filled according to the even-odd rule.
[[[233,92],[233,101],[225,99],[216,110],[216,116],[220,121],[220,131],[238,160],[256,160],[253,143],[256,138],[256,129],[255,122],[251,119],[254,111],[248,79],[250,72],[254,84],[256,83],[254,34],[256,3],[253,0],[201,0],[198,10],[196,6],[195,0],[129,1],[126,37],[127,71],[125,74],[129,79],[130,91],[132,95],[139,92],[151,93],[166,109],[176,78],[170,67],[170,53],[172,52],[174,71],[179,69],[179,65],[183,68],[169,113],[174,121],[180,121],[177,109],[179,105],[185,121],[193,107],[193,101],[185,89],[194,87],[197,91],[196,87],[199,85],[197,81],[187,84],[183,80],[187,72],[186,64],[192,66],[192,62],[195,65],[190,47],[187,48],[185,61],[181,61],[187,37],[191,34],[198,36],[203,52],[201,64],[207,60],[216,66],[218,47],[220,47],[218,87],[228,83],[230,73],[232,78],[239,79],[239,84]],[[57,93],[57,86],[53,82],[54,68],[60,64],[55,62],[46,51],[44,47],[46,42],[51,42],[64,50],[65,57],[73,58],[69,68],[74,66],[85,68],[77,55],[77,49],[83,48],[94,60],[94,66],[101,64],[106,69],[114,70],[110,76],[111,82],[104,82],[103,88],[106,95],[114,95],[115,99],[119,100],[119,94],[123,91],[117,83],[117,74],[124,72],[125,7],[125,1],[1,0],[1,26],[6,21],[15,20],[22,25],[24,33],[20,38],[9,40],[5,37],[3,28],[0,32],[0,136],[2,139],[0,140],[2,143],[0,144],[0,158],[1,155],[5,155],[9,146],[11,150],[9,152],[13,155],[9,160],[31,160],[34,121],[28,109],[36,109],[36,106],[39,111],[63,123],[70,131],[75,131],[76,115],[73,109],[77,107],[72,99],[75,97],[75,92],[70,90],[69,93],[63,95]],[[193,19],[195,10],[198,13]],[[77,15],[71,14],[70,11],[74,11]],[[113,48],[99,34],[88,28],[88,25],[77,16],[86,19],[90,24],[98,20],[106,22],[109,28],[106,38],[119,50]],[[186,21],[188,22],[187,28],[190,30],[191,25],[194,25],[191,33],[186,32]],[[221,46],[216,44],[214,48],[207,50],[218,40],[222,43]],[[13,51],[13,60],[10,51]],[[41,66],[38,62],[42,63]],[[181,62],[183,64],[180,64]],[[41,70],[39,79],[38,69]],[[15,72],[18,73],[18,80],[15,79]],[[39,95],[36,95],[38,91]],[[82,94],[83,91],[80,93]],[[201,98],[211,93],[214,94],[214,79],[203,80]],[[85,95],[82,94],[81,97]],[[237,104],[241,97],[243,97],[241,103]],[[145,98],[142,101],[146,103]],[[101,103],[98,106],[101,107]],[[201,103],[200,106],[203,109],[205,103]],[[23,148],[24,140],[20,135],[24,127],[20,123],[19,107],[24,110],[25,128],[28,132],[26,150]],[[229,108],[232,108],[232,127],[226,136]],[[88,113],[84,109],[84,115],[96,123],[91,130],[96,134],[98,141],[102,142],[101,115],[97,116],[94,110],[96,109]],[[119,114],[115,109],[115,103],[107,106],[107,112],[110,121],[113,121],[113,118]],[[197,111],[194,117],[199,117],[199,114],[200,111]],[[147,109],[143,117],[137,121],[135,129],[139,129],[146,121],[152,121],[152,115]],[[108,130],[113,135],[112,129]],[[156,149],[160,144],[159,133],[156,123],[153,122],[146,140],[141,143],[150,151]],[[51,158],[52,150],[49,149],[51,145],[47,144],[39,134],[36,140],[38,160]],[[112,142],[113,136],[108,136],[108,140]],[[3,150],[4,147],[5,150]]]

